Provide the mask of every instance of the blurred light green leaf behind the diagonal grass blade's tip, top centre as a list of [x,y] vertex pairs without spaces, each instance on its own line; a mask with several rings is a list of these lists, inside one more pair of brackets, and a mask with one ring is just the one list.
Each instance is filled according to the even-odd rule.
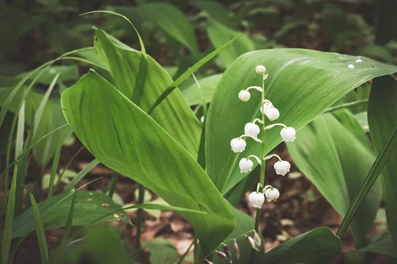
[[[241,32],[234,31],[213,19],[208,20],[207,31],[208,37],[215,48],[222,46],[223,43],[225,43],[225,40],[230,40],[241,35]],[[253,41],[251,41],[247,35],[243,34],[234,43],[222,51],[219,54],[219,57],[225,66],[229,66],[241,54],[251,52],[253,50],[255,50]]]

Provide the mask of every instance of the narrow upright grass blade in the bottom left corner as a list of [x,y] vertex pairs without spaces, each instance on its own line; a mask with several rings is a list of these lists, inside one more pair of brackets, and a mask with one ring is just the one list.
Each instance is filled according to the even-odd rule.
[[18,166],[15,163],[14,174],[12,176],[11,189],[9,191],[7,210],[5,212],[4,232],[1,246],[1,263],[7,264],[9,249],[11,247],[11,234],[12,224],[14,221],[15,211],[15,192],[16,192],[16,174],[18,172]]

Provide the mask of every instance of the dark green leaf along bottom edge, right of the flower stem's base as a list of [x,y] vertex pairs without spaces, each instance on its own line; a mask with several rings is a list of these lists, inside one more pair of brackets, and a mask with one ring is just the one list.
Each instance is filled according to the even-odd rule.
[[342,243],[331,229],[317,227],[270,250],[259,253],[255,263],[327,263],[342,249]]

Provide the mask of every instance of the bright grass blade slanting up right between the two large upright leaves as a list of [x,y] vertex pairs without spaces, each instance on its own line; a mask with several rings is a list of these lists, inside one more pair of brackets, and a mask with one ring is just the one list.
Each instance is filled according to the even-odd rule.
[[180,85],[183,81],[185,81],[190,75],[192,75],[192,73],[194,73],[195,71],[197,71],[202,65],[204,65],[205,63],[207,63],[209,60],[211,60],[213,57],[215,57],[218,53],[220,53],[221,51],[223,51],[225,48],[227,48],[232,42],[234,42],[235,40],[237,40],[241,35],[233,38],[232,40],[226,42],[225,44],[223,44],[221,47],[219,47],[218,49],[216,49],[215,51],[209,53],[208,55],[206,55],[205,57],[203,57],[202,59],[200,59],[198,62],[196,62],[192,67],[190,67],[187,71],[185,71],[184,73],[182,73],[181,76],[178,77],[178,79],[176,79],[167,89],[164,90],[164,92],[161,94],[161,96],[156,100],[156,102],[154,102],[153,106],[150,107],[149,111],[147,112],[148,114],[150,114],[154,108],[156,108],[156,106],[160,105],[161,102],[163,102],[163,100],[169,95],[171,94],[172,91],[174,91],[175,88],[177,88],[178,85]]

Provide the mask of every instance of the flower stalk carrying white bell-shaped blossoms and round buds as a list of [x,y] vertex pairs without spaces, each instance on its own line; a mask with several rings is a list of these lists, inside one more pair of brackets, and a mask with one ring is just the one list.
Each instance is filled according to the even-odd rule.
[[[288,161],[282,160],[278,155],[271,154],[265,156],[265,132],[268,129],[272,129],[276,126],[282,126],[283,128],[280,131],[280,136],[285,142],[292,142],[296,138],[296,131],[293,127],[288,127],[282,123],[273,123],[265,125],[265,117],[269,121],[274,121],[280,117],[279,110],[273,106],[273,104],[265,99],[265,80],[268,77],[268,74],[265,74],[266,68],[263,65],[258,65],[255,68],[257,74],[262,75],[262,87],[259,86],[250,86],[245,90],[239,92],[238,97],[242,102],[248,102],[251,98],[250,90],[253,92],[258,91],[262,95],[260,112],[262,113],[262,118],[255,118],[253,121],[248,122],[244,126],[244,134],[234,138],[230,141],[230,146],[233,152],[242,153],[246,146],[247,142],[245,138],[249,137],[254,139],[256,142],[261,144],[261,155],[259,157],[256,155],[249,155],[246,158],[241,158],[239,162],[240,172],[241,173],[249,173],[252,171],[254,166],[254,159],[261,166],[261,174],[260,174],[260,182],[258,183],[257,190],[252,192],[248,200],[253,205],[253,207],[257,208],[257,216],[255,219],[255,230],[258,231],[259,220],[260,220],[260,212],[263,203],[265,200],[267,202],[276,201],[280,196],[280,192],[271,185],[265,185],[265,162],[266,160],[276,157],[278,161],[273,164],[274,170],[276,174],[284,176],[289,172],[291,168],[291,164]],[[257,124],[258,123],[258,124]],[[259,138],[258,136],[261,136]],[[265,187],[264,187],[265,186]]]

